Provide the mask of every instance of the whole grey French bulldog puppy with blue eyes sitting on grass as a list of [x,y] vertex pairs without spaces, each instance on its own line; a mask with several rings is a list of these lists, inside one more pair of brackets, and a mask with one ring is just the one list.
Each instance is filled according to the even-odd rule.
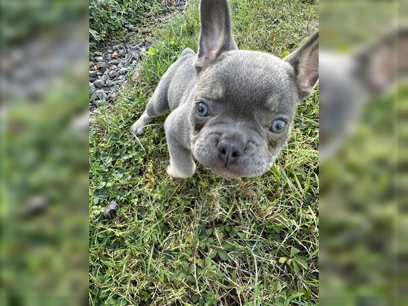
[[167,174],[187,178],[195,163],[226,177],[266,172],[289,138],[299,101],[318,80],[318,32],[284,60],[238,50],[227,0],[201,0],[199,52],[187,48],[170,66],[142,116],[164,123]]

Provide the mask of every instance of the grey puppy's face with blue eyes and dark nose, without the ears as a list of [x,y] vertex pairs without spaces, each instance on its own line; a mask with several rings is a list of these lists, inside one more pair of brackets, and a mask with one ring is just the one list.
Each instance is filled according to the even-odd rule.
[[297,104],[290,64],[260,52],[223,53],[198,77],[190,115],[195,159],[226,177],[263,174],[289,138]]

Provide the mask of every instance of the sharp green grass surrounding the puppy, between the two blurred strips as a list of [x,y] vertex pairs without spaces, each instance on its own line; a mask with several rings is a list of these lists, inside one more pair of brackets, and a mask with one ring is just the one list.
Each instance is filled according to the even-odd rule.
[[[317,28],[317,1],[233,0],[238,46],[288,54]],[[185,47],[196,50],[197,1],[154,31],[155,44],[90,127],[90,304],[317,305],[318,93],[298,109],[266,174],[228,180],[197,167],[166,175],[164,118],[130,125]],[[113,220],[103,209],[116,200]]]

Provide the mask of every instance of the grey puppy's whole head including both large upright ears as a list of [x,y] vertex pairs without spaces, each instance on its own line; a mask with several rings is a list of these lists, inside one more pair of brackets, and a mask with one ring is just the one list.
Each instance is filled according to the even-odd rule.
[[191,110],[194,157],[216,174],[266,172],[289,138],[299,100],[318,79],[318,33],[281,60],[238,50],[226,0],[201,0]]

